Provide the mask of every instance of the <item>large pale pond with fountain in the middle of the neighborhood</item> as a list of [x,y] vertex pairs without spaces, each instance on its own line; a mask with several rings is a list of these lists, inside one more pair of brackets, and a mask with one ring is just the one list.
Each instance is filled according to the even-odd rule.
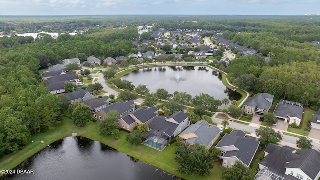
[[[230,101],[240,100],[242,97],[240,93],[223,85],[221,73],[206,66],[143,68],[132,71],[122,76],[121,79],[131,81],[135,87],[139,84],[147,85],[150,92],[153,93],[159,88],[164,88],[171,94],[174,91],[183,91],[191,94],[192,97],[206,93],[221,101],[224,98],[228,98]],[[224,108],[224,105],[219,108]]]

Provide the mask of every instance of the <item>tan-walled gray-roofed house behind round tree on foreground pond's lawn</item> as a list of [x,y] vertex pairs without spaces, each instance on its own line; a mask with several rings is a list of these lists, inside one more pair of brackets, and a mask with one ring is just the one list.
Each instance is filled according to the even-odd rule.
[[125,116],[128,113],[134,111],[134,108],[135,108],[135,104],[133,101],[119,101],[99,111],[95,111],[93,114],[95,119],[101,120],[104,118],[105,114],[108,113],[110,110],[117,110],[119,112],[119,115],[117,118],[120,119],[122,118],[122,116]]

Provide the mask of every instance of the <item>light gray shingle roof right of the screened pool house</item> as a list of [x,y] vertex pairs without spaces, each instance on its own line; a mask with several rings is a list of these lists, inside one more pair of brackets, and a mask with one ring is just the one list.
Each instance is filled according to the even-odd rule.
[[186,141],[188,143],[198,143],[208,146],[212,140],[220,134],[220,130],[216,126],[208,127],[207,121],[198,121],[195,124],[191,124],[180,135],[194,133],[197,137],[189,138]]

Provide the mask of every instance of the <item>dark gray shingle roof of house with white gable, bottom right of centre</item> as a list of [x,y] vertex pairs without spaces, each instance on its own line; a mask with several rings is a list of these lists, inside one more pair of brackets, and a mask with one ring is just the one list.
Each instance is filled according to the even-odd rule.
[[244,132],[241,133],[239,131],[240,130],[236,130],[235,133],[225,134],[215,147],[235,146],[238,150],[227,151],[223,157],[237,157],[245,165],[249,166],[260,141],[257,141],[255,137],[251,136],[242,137]]

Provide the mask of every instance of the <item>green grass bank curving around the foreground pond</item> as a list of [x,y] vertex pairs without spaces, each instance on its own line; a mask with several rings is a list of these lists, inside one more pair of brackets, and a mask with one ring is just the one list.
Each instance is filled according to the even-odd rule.
[[[47,132],[37,134],[32,136],[34,142],[27,144],[22,150],[19,150],[15,153],[11,153],[0,160],[1,169],[12,169],[18,164],[20,164],[25,159],[29,158],[36,152],[40,151],[48,144],[67,137],[71,136],[72,133],[77,133],[78,136],[86,137],[92,140],[99,141],[103,144],[106,144],[112,148],[117,149],[120,152],[124,152],[134,158],[140,159],[147,163],[150,163],[156,167],[159,167],[168,173],[175,174],[184,179],[220,179],[221,170],[217,167],[215,163],[214,168],[211,170],[212,175],[209,177],[202,177],[197,175],[187,175],[178,173],[175,171],[178,167],[178,163],[174,160],[174,149],[176,148],[176,143],[167,146],[162,151],[158,151],[147,147],[145,145],[131,146],[125,141],[125,137],[128,134],[127,132],[120,131],[119,139],[115,140],[111,136],[101,136],[98,133],[98,125],[94,122],[89,122],[84,127],[75,126],[69,119],[63,117],[61,124],[56,125],[54,129]],[[40,143],[43,140],[44,143]],[[1,174],[0,174],[1,176]]]

